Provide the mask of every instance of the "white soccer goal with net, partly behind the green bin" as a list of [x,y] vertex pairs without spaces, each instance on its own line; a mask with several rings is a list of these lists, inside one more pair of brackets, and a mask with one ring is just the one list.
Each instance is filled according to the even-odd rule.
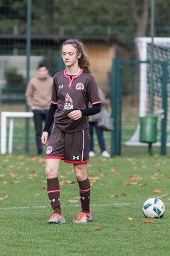
[[[140,60],[140,105],[139,117],[145,117],[149,114],[149,98],[152,93],[152,109],[153,113],[158,117],[158,142],[154,145],[159,145],[161,137],[161,120],[164,110],[162,110],[162,63],[164,61],[169,63],[170,60],[170,38],[154,38],[153,47],[153,68],[151,73],[150,60],[152,58],[152,38],[141,37],[135,38],[137,50]],[[151,78],[152,75],[152,78]],[[152,79],[152,80],[151,80]],[[152,92],[150,91],[150,82],[152,81]],[[170,64],[168,64],[168,109],[170,107]],[[167,115],[167,145],[170,145],[170,113]],[[137,146],[144,145],[140,142],[140,124],[132,134],[132,137],[125,142],[126,145]]]

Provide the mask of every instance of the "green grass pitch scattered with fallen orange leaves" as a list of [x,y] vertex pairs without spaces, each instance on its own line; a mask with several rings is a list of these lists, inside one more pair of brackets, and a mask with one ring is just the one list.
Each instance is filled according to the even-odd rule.
[[[169,255],[170,159],[118,156],[91,159],[92,223],[73,224],[80,212],[79,188],[71,164],[61,164],[61,203],[65,225],[48,225],[45,160],[0,156],[1,256],[8,255]],[[165,215],[144,223],[147,198],[164,201]]]

